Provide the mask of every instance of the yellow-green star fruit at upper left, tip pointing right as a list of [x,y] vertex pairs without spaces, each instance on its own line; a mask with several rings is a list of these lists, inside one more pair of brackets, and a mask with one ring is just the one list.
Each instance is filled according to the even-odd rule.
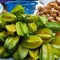
[[9,13],[9,12],[3,12],[1,16],[1,20],[3,22],[14,22],[16,19],[16,16]]

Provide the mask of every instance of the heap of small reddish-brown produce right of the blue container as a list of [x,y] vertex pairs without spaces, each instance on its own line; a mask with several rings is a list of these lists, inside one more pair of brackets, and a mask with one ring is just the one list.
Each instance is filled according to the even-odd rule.
[[44,7],[39,7],[37,15],[46,15],[49,21],[60,22],[60,2],[50,2]]

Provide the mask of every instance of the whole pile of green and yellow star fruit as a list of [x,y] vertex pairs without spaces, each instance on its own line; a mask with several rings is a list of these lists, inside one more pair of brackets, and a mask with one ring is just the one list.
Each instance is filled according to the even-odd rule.
[[60,23],[26,14],[21,5],[0,15],[0,58],[59,60]]

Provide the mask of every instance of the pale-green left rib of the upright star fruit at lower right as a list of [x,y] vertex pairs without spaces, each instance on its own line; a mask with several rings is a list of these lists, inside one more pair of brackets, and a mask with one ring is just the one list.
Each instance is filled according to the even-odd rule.
[[48,49],[47,46],[44,44],[42,48],[40,48],[40,60],[48,60]]

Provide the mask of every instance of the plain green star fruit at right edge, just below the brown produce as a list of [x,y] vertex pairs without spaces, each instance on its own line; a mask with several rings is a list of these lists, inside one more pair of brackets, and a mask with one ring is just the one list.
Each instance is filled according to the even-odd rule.
[[46,27],[52,29],[53,32],[60,32],[60,23],[58,22],[48,22]]

